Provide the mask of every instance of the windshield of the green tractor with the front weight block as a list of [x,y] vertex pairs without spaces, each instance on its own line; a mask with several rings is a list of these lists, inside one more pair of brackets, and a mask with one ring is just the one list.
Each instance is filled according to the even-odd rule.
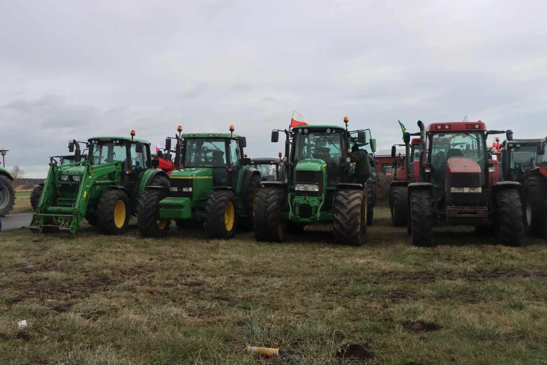
[[227,167],[226,141],[222,138],[187,138],[184,167]]

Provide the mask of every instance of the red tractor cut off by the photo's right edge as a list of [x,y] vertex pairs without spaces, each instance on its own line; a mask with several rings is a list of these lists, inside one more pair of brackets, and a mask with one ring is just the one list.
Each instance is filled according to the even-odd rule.
[[[536,160],[525,179],[522,202],[526,233],[547,238],[547,137],[538,142]],[[503,161],[503,160],[502,160]]]

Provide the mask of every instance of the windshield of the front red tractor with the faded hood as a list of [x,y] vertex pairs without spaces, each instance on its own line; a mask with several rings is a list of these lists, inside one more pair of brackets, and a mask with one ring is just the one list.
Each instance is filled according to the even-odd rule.
[[429,141],[431,181],[437,188],[444,187],[449,158],[467,157],[476,161],[481,170],[486,166],[484,132],[435,133],[429,135]]

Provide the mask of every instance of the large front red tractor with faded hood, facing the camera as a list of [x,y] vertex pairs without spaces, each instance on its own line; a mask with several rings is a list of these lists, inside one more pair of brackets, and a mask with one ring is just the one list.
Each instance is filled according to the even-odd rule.
[[[499,181],[482,121],[432,123],[421,131],[419,182],[409,184],[412,244],[433,245],[433,225],[493,226],[504,245],[521,244],[521,184]],[[512,132],[507,131],[510,141]]]

